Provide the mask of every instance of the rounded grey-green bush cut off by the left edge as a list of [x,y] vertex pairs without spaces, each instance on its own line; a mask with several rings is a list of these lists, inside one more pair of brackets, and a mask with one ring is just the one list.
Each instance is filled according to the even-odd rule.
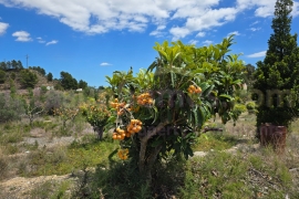
[[10,95],[0,94],[0,123],[18,121],[23,114],[22,101],[18,97],[12,98]]

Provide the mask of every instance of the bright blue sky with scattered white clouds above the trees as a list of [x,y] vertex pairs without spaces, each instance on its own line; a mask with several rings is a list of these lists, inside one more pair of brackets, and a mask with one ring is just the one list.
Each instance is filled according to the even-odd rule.
[[[113,71],[137,72],[157,56],[155,42],[217,44],[235,33],[233,53],[256,65],[272,33],[276,0],[0,0],[0,61],[20,60],[90,86]],[[292,30],[299,32],[299,2]]]

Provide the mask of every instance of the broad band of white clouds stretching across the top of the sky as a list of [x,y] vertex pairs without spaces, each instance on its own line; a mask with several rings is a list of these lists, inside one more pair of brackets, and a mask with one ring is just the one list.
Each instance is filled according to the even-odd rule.
[[[173,40],[195,32],[214,31],[212,29],[234,21],[238,13],[249,9],[256,17],[272,15],[275,2],[236,0],[236,6],[219,8],[220,0],[0,0],[0,4],[7,7],[32,9],[39,14],[54,17],[73,30],[87,34],[123,30],[143,32],[154,24],[156,30],[151,35],[168,33]],[[299,3],[293,4],[293,14],[299,15]],[[167,28],[165,22],[177,25]]]

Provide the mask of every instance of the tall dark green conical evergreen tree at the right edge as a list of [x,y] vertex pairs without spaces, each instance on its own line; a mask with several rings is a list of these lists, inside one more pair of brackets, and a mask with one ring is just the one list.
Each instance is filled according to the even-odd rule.
[[277,0],[269,49],[264,62],[257,63],[254,88],[264,95],[258,107],[257,126],[272,123],[288,127],[298,116],[299,104],[295,96],[299,96],[299,48],[297,34],[290,34],[292,4],[292,0]]

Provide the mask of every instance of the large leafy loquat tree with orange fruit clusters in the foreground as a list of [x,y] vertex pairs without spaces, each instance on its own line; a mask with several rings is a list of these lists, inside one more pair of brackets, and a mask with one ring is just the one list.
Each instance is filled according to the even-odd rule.
[[237,121],[235,90],[243,83],[244,64],[230,54],[233,36],[217,45],[195,48],[181,41],[154,49],[158,57],[136,76],[133,71],[106,76],[120,158],[132,158],[151,182],[155,164],[168,156],[193,156],[192,142],[207,119]]

